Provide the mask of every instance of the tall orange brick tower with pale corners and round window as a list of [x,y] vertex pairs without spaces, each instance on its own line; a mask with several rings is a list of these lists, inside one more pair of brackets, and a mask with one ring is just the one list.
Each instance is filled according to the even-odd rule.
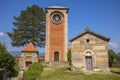
[[46,62],[67,62],[68,10],[60,6],[46,8]]

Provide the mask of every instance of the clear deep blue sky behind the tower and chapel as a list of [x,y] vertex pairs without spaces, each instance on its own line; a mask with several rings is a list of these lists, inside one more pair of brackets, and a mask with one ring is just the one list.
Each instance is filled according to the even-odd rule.
[[[21,51],[23,47],[13,47],[6,32],[14,28],[14,16],[21,10],[38,5],[68,7],[68,39],[85,31],[91,31],[110,38],[109,49],[120,52],[120,0],[0,0],[0,42],[8,51]],[[39,52],[45,52],[38,48]]]

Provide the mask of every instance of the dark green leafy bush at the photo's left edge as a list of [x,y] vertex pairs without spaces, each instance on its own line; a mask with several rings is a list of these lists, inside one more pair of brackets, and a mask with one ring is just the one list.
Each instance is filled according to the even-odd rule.
[[7,70],[11,76],[15,76],[18,73],[15,59],[8,53],[3,43],[0,43],[0,69]]

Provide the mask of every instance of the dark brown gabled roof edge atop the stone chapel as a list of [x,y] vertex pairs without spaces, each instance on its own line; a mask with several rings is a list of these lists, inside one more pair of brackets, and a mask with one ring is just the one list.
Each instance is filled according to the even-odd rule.
[[96,37],[98,37],[98,38],[100,38],[100,39],[102,39],[102,40],[104,40],[104,41],[107,41],[107,42],[109,42],[109,40],[110,40],[110,38],[107,38],[107,37],[102,36],[102,35],[100,35],[100,34],[97,34],[97,33],[95,33],[95,32],[86,30],[85,32],[79,34],[78,36],[76,36],[76,37],[74,37],[74,38],[72,38],[72,39],[70,39],[69,41],[72,42],[72,41],[78,39],[79,37],[81,37],[81,36],[83,36],[83,35],[85,35],[85,34],[94,35],[94,36],[96,36]]

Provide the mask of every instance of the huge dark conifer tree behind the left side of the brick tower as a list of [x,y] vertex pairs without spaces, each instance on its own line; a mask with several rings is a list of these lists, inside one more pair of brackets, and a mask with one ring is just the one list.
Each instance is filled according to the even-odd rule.
[[13,46],[24,46],[32,42],[35,46],[44,47],[45,44],[45,12],[33,5],[22,10],[20,16],[14,17],[13,32],[8,32]]

